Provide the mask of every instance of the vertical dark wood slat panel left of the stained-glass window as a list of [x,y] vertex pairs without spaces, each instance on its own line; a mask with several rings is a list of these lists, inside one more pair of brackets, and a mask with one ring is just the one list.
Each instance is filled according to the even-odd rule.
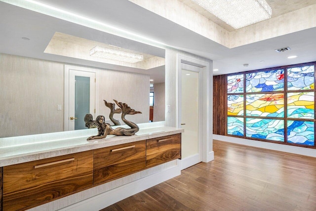
[[213,76],[213,134],[226,135],[227,85],[226,75]]

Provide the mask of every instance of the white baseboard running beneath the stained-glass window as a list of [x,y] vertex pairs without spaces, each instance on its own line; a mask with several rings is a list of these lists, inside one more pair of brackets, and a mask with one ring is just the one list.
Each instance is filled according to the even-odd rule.
[[259,147],[259,148],[264,148],[264,149],[271,149],[271,150],[276,150],[276,151],[281,151],[281,152],[293,153],[293,154],[298,154],[298,155],[316,157],[316,149],[311,149],[311,148],[296,147],[296,146],[290,146],[290,145],[284,145],[284,144],[275,144],[271,142],[256,141],[256,140],[236,138],[236,137],[216,135],[216,134],[213,134],[213,139],[226,141],[230,143],[247,145],[247,146]]

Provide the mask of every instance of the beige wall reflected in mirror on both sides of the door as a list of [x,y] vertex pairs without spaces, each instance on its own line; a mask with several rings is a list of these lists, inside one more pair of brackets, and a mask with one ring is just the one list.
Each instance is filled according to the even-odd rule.
[[[149,80],[148,75],[100,70],[99,114],[109,116],[103,99],[116,99],[143,113],[127,120],[149,122]],[[63,63],[0,54],[0,90],[0,137],[64,130]]]

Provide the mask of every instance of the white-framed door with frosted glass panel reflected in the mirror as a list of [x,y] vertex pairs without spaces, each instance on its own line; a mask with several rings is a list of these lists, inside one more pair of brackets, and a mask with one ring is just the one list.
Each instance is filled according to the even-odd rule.
[[[65,69],[66,70],[66,69]],[[65,130],[86,129],[84,116],[92,114],[95,119],[96,113],[96,72],[82,68],[68,68],[68,103],[65,106]]]

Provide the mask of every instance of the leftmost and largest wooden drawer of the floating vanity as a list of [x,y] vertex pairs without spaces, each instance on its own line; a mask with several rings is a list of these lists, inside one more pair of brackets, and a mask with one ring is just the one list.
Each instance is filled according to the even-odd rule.
[[35,207],[92,182],[92,150],[3,167],[3,211]]

